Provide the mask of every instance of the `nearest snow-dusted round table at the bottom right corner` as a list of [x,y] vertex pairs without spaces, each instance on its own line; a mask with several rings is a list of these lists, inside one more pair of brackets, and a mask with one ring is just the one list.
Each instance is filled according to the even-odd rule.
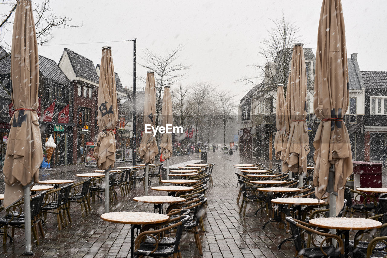
[[382,222],[373,219],[363,218],[317,218],[309,220],[309,224],[315,227],[324,229],[336,229],[337,235],[344,234],[344,256],[348,258],[349,255],[349,231],[350,230],[364,230],[377,229],[382,226]]

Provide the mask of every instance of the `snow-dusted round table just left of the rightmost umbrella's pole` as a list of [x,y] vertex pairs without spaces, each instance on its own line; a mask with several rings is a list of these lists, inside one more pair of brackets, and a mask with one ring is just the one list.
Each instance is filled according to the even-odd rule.
[[[298,220],[301,220],[302,205],[321,205],[325,203],[323,200],[318,200],[314,198],[304,198],[304,197],[276,198],[276,199],[272,199],[271,202],[279,205],[279,208],[274,209],[274,211],[277,213],[277,216],[279,216],[280,218],[281,218],[281,213],[283,212],[283,205],[294,205],[295,208],[298,210]],[[285,239],[277,246],[277,248],[281,249],[281,246],[284,243],[291,240],[294,241],[293,237],[289,237]]]

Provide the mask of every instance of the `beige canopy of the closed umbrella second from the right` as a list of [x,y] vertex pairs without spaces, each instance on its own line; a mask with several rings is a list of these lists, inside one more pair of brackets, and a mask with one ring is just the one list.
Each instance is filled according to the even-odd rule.
[[307,72],[302,44],[295,44],[286,91],[285,120],[289,126],[289,140],[285,160],[293,173],[307,173],[309,137],[307,118]]

